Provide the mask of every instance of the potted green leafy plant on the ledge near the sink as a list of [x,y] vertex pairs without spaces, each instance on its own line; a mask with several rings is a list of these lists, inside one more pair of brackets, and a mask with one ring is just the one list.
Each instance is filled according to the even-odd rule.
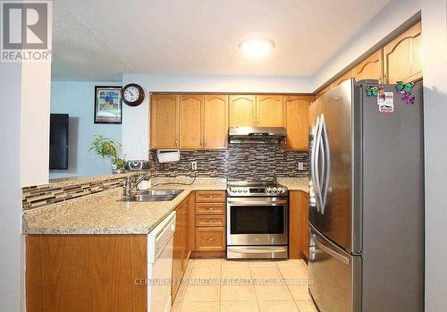
[[94,150],[97,156],[109,158],[112,164],[112,173],[125,173],[126,161],[124,157],[118,156],[118,150],[122,148],[120,143],[115,143],[112,139],[102,135],[95,136],[89,150]]

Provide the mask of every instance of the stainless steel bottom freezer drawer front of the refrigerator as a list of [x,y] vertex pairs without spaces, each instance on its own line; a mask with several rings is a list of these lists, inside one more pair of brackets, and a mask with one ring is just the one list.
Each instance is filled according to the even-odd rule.
[[321,312],[359,312],[361,257],[351,256],[309,228],[309,291],[316,306]]

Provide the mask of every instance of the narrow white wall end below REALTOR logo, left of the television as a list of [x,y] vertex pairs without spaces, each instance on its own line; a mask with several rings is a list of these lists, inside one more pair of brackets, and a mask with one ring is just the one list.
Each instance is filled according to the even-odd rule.
[[51,63],[23,63],[21,78],[21,185],[45,184],[49,163]]

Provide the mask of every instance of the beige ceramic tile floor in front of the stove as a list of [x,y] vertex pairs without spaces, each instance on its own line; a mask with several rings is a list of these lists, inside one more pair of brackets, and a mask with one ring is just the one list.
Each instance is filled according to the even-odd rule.
[[301,260],[191,259],[173,312],[316,312]]

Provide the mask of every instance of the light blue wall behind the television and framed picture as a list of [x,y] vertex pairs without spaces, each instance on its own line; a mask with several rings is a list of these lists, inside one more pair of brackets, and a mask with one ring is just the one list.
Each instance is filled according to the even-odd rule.
[[51,113],[69,114],[70,122],[68,170],[51,170],[50,179],[111,173],[110,161],[89,152],[89,148],[94,136],[99,134],[121,143],[121,124],[93,122],[95,86],[121,84],[116,81],[51,83]]

